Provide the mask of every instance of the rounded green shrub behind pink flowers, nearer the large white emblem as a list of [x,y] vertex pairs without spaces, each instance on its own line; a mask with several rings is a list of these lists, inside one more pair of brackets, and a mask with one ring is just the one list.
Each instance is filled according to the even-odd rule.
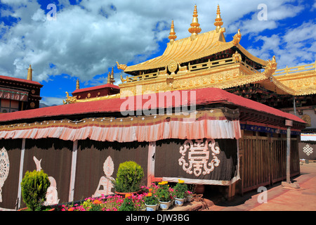
[[123,193],[139,191],[143,176],[143,168],[136,162],[122,162],[117,171],[117,179],[113,182],[114,188]]

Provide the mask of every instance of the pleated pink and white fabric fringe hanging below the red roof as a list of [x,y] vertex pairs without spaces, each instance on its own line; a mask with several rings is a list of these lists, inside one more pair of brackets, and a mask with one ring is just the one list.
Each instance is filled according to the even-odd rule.
[[[15,124],[0,129],[0,139],[46,139],[65,141],[150,142],[162,139],[239,139],[241,130],[238,113],[230,117],[225,108],[181,115],[151,115],[148,117],[88,118]],[[228,116],[227,116],[228,115]]]

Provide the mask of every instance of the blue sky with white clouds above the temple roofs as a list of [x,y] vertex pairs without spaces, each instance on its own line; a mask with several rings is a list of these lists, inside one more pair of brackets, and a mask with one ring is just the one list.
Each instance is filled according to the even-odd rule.
[[[48,4],[56,7],[55,20],[47,18]],[[0,0],[0,75],[26,79],[32,64],[47,105],[62,104],[77,79],[81,88],[105,84],[112,67],[119,84],[115,62],[161,55],[171,20],[177,39],[190,36],[195,4],[202,32],[215,29],[219,4],[226,41],[240,29],[240,44],[263,60],[275,55],[278,68],[316,60],[316,1]]]

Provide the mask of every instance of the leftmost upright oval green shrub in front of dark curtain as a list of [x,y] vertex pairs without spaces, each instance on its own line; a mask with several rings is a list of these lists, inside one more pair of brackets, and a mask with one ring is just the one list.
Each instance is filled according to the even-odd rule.
[[51,186],[51,182],[43,170],[25,173],[21,182],[22,199],[29,210],[39,211],[42,209],[49,186]]

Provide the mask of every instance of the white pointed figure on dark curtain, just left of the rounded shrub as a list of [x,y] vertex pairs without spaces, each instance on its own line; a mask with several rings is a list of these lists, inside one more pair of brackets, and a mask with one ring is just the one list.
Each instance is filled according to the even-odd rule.
[[[105,173],[105,176],[102,176],[100,178],[96,193],[92,195],[93,198],[100,197],[102,195],[113,194],[111,189],[113,188],[112,180],[114,180],[114,178],[112,177],[112,174],[114,172],[114,163],[110,156],[108,156],[103,163],[103,172]],[[100,189],[101,186],[103,186],[103,189]]]

